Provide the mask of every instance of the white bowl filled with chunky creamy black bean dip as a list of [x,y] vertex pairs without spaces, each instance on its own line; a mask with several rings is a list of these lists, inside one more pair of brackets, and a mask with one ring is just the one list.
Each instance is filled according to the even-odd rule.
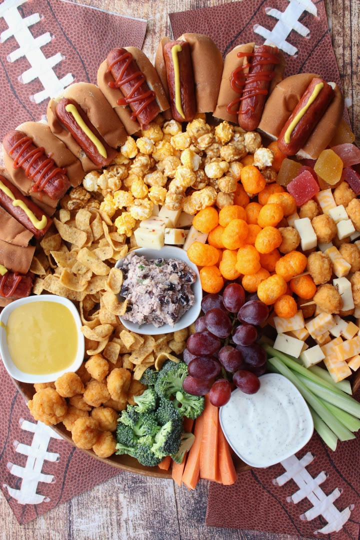
[[138,248],[117,262],[119,297],[128,301],[120,321],[138,334],[168,334],[190,326],[201,311],[198,267],[179,247]]

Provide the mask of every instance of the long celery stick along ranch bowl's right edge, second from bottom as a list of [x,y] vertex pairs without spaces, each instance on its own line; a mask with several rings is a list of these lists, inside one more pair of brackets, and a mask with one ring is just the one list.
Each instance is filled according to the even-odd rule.
[[[322,402],[316,397],[305,384],[300,380],[298,375],[295,375],[279,358],[268,358],[268,367],[275,367],[282,375],[287,377],[294,386],[298,389],[304,400],[313,407],[315,412],[321,417],[321,419],[328,424],[331,431],[334,431],[335,435],[341,441],[348,441],[351,438],[355,438],[355,435],[351,433],[348,428],[345,428],[341,422],[339,422],[330,411],[323,406]],[[306,377],[302,377],[305,379]],[[316,385],[315,385],[316,386]]]

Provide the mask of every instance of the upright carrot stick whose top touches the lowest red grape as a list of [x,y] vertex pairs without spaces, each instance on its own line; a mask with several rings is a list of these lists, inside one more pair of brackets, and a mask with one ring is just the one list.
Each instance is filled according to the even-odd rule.
[[204,427],[200,449],[200,478],[216,482],[218,479],[219,409],[205,396]]

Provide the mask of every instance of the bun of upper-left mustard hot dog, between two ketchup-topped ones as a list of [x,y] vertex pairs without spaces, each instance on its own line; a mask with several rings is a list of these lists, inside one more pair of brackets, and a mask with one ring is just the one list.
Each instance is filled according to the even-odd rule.
[[78,145],[72,134],[59,122],[56,105],[61,98],[73,99],[78,103],[98,130],[106,143],[117,149],[126,140],[126,131],[116,112],[107,102],[101,90],[94,84],[75,83],[68,86],[62,95],[52,98],[47,105],[47,121],[50,129],[80,161],[85,173],[98,168]]

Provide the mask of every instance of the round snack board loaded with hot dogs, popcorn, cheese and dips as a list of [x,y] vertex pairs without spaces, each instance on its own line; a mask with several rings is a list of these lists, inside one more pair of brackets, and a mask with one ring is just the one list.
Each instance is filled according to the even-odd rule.
[[192,33],[113,49],[4,137],[1,355],[93,457],[195,489],[360,428],[360,150],[338,86],[284,69]]

